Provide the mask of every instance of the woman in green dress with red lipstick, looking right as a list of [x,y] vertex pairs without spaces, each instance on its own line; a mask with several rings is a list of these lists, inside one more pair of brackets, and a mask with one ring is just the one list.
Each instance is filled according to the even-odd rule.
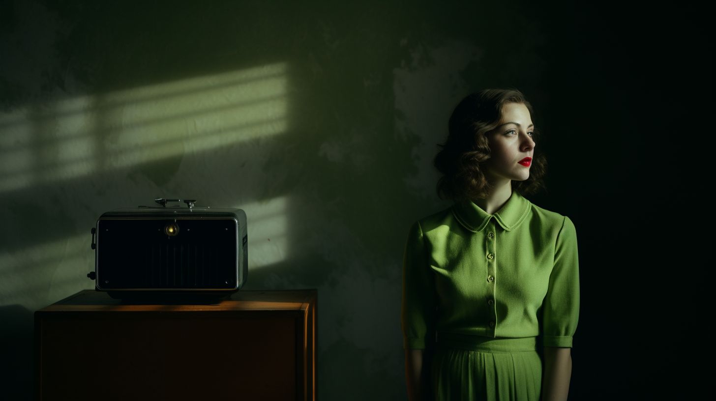
[[[452,207],[413,224],[403,264],[410,400],[566,400],[579,317],[572,221],[523,197],[542,185],[517,90],[460,102],[435,157]],[[543,347],[543,348],[542,348]]]

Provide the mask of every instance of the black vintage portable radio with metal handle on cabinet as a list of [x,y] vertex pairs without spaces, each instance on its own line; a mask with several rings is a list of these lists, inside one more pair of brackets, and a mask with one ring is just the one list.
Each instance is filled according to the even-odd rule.
[[[248,278],[246,213],[155,199],[115,209],[92,228],[97,291],[137,295],[228,295]],[[178,203],[178,204],[173,204]]]

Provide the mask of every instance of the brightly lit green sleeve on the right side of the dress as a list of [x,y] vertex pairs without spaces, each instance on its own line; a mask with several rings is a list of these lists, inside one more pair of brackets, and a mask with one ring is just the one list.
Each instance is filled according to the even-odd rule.
[[579,320],[579,258],[574,223],[564,218],[557,234],[554,266],[543,303],[545,347],[572,347]]

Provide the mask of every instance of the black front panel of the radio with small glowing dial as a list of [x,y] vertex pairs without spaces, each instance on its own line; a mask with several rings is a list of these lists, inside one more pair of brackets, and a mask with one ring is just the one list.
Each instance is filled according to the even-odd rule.
[[100,220],[101,289],[233,289],[236,221]]

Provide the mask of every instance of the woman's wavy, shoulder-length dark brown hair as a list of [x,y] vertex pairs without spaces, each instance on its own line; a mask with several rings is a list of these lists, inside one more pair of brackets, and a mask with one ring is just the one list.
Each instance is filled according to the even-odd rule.
[[[433,164],[442,173],[437,181],[440,198],[465,200],[486,198],[491,189],[483,173],[483,163],[490,158],[488,132],[499,126],[505,103],[522,103],[534,115],[532,105],[522,92],[515,89],[486,89],[461,100],[450,116],[448,140],[438,145],[440,151]],[[533,138],[538,139],[535,130]],[[535,147],[530,176],[524,181],[513,180],[512,188],[521,195],[544,188],[543,177],[547,160]]]

